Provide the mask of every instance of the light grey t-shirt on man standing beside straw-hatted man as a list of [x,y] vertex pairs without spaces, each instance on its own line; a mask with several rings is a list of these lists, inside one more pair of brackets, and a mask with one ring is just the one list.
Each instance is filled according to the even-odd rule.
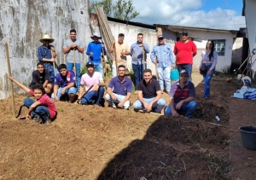
[[[67,48],[72,44],[77,44],[80,48],[84,48],[82,41],[80,41],[79,39],[76,39],[75,42],[73,42],[71,39],[67,39],[64,43],[63,48]],[[80,54],[78,49],[75,50],[75,61],[76,63],[80,63]],[[70,51],[67,53],[67,62],[73,63],[73,49],[70,49]]]

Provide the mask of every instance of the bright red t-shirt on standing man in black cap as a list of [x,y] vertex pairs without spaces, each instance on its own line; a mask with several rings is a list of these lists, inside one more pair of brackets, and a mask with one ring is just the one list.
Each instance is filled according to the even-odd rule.
[[173,49],[176,55],[176,64],[193,64],[193,54],[196,54],[196,46],[193,41],[182,43],[178,41]]

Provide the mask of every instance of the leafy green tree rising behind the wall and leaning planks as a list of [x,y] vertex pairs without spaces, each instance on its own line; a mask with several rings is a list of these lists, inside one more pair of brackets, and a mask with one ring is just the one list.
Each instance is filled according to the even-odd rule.
[[93,1],[90,3],[89,12],[95,6],[102,6],[107,16],[111,16],[113,11],[113,17],[119,20],[131,20],[139,15],[137,11],[134,11],[132,0],[118,0],[115,5],[112,5],[112,0]]

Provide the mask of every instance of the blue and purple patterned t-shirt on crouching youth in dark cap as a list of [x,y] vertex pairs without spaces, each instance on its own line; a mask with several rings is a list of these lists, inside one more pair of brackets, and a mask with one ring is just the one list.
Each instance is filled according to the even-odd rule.
[[58,73],[55,77],[55,85],[61,88],[66,87],[70,83],[76,83],[76,77],[73,71],[68,71],[66,76],[62,76],[61,73]]

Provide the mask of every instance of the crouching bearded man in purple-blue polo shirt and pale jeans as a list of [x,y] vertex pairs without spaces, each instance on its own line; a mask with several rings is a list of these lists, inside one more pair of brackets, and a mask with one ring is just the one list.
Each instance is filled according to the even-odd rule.
[[108,94],[105,96],[108,106],[128,109],[130,107],[131,90],[132,82],[130,78],[125,76],[125,66],[119,65],[118,76],[112,78],[108,84]]

